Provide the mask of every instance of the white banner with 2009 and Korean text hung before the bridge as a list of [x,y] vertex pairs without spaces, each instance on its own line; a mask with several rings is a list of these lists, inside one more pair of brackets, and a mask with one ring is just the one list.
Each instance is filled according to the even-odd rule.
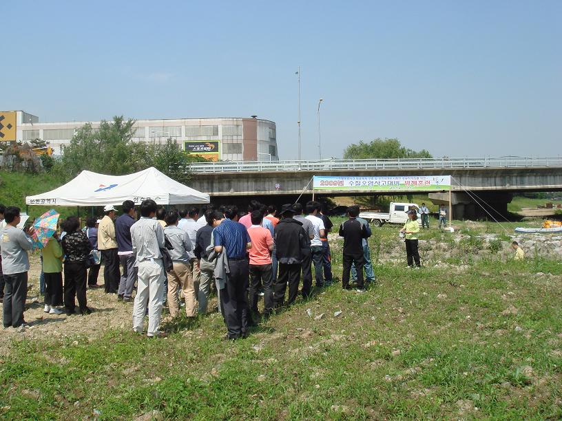
[[450,189],[450,175],[408,177],[324,177],[315,175],[314,190],[444,191]]

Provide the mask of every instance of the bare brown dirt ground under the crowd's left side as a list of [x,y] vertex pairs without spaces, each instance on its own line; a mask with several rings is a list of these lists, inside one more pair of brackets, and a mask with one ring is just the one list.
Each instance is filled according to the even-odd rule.
[[[10,338],[25,338],[33,340],[35,338],[66,338],[76,334],[94,338],[106,332],[108,328],[130,329],[132,328],[133,303],[123,303],[117,301],[116,294],[105,294],[103,288],[88,288],[86,292],[87,306],[92,310],[92,314],[81,316],[73,314],[47,314],[43,312],[43,296],[39,294],[39,274],[41,273],[41,262],[39,254],[30,255],[30,271],[28,272],[28,285],[32,285],[28,291],[28,298],[25,303],[25,324],[29,327],[25,332],[9,327],[0,327],[0,356],[9,352]],[[98,276],[98,285],[103,285],[103,266]],[[216,299],[209,300],[209,308],[216,305]],[[0,304],[3,310],[3,304]],[[76,310],[78,303],[76,302]],[[1,311],[1,310],[0,310]],[[163,320],[165,317],[163,315]]]

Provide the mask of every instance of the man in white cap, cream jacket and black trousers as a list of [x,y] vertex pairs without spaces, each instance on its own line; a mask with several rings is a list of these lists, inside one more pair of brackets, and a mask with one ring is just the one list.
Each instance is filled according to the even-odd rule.
[[103,279],[105,281],[105,293],[117,294],[121,273],[119,272],[119,257],[117,255],[117,240],[115,236],[115,208],[107,205],[103,208],[105,216],[98,226],[98,250],[103,257]]

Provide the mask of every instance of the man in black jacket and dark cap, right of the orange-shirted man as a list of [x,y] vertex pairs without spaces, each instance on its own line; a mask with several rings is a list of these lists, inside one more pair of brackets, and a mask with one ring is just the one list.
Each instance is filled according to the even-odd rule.
[[300,266],[306,248],[310,247],[309,236],[302,228],[302,223],[293,219],[294,213],[291,204],[284,204],[280,213],[283,219],[275,226],[275,247],[279,262],[279,274],[273,292],[275,308],[283,305],[287,283],[289,283],[287,304],[291,305],[297,298]]

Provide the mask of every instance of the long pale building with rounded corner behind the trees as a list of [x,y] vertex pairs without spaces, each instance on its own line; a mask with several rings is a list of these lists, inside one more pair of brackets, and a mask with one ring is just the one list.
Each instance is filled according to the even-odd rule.
[[[3,118],[3,119],[2,119]],[[50,142],[55,155],[70,143],[74,131],[86,122],[39,122],[37,116],[25,111],[0,111],[2,121],[10,121],[10,132],[16,140],[28,142],[42,139]],[[15,122],[15,124],[13,124]],[[100,122],[90,122],[94,129]],[[260,118],[164,118],[136,120],[135,142],[162,143],[177,140],[189,153],[209,160],[277,161],[279,160],[275,122]],[[8,131],[4,127],[3,131]],[[1,138],[2,140],[14,140]]]

